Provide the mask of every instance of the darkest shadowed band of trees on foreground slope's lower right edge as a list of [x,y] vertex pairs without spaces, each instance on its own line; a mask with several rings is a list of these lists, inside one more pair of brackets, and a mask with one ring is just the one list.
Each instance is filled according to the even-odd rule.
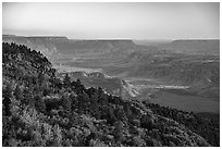
[[192,132],[206,138],[211,145],[217,147],[220,146],[220,120],[218,117],[206,117],[202,114],[194,114],[172,108],[160,107],[155,103],[148,103],[146,105],[150,108],[153,113],[172,119],[185,125]]

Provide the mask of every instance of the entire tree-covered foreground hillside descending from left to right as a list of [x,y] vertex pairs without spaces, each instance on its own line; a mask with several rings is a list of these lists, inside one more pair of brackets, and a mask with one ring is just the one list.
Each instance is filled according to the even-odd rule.
[[61,80],[25,46],[2,44],[2,89],[4,147],[219,146],[218,122]]

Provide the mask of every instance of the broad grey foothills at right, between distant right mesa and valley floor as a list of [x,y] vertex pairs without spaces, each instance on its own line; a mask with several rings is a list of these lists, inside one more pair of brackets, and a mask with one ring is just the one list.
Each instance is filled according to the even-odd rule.
[[116,65],[107,67],[106,73],[188,86],[193,95],[220,97],[219,55],[135,51]]

